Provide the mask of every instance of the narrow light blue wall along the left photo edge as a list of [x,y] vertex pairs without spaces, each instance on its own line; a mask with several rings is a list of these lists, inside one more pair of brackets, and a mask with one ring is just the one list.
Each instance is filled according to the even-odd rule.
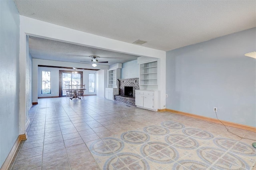
[[19,27],[12,0],[0,0],[0,167],[19,135]]

